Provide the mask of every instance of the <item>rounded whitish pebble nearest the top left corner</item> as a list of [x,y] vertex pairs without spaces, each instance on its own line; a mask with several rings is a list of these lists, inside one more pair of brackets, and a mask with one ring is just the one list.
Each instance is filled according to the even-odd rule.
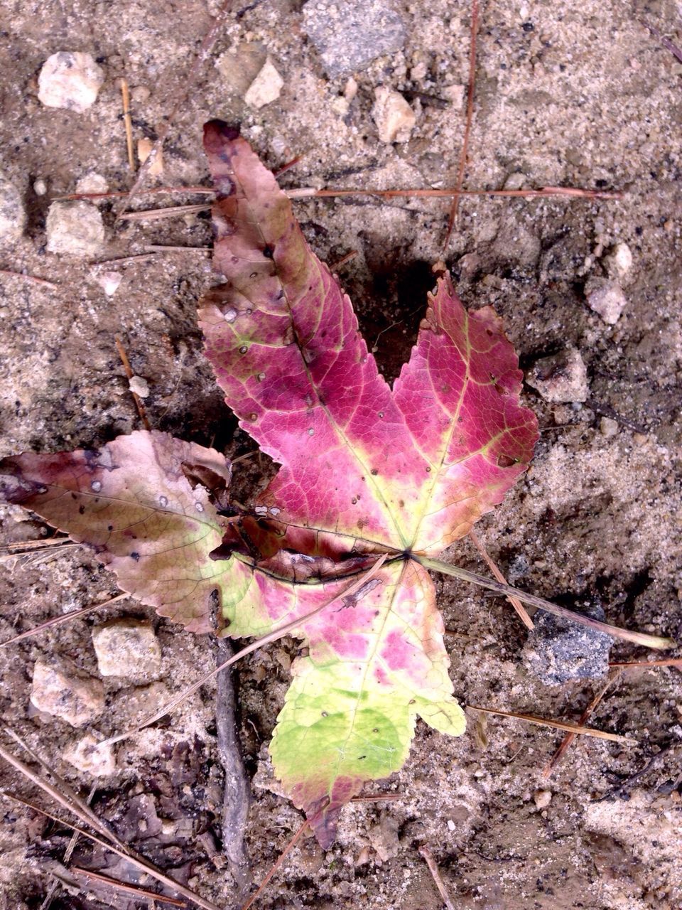
[[93,56],[59,51],[43,64],[38,76],[38,98],[45,107],[65,107],[82,114],[95,104],[104,81],[104,70]]

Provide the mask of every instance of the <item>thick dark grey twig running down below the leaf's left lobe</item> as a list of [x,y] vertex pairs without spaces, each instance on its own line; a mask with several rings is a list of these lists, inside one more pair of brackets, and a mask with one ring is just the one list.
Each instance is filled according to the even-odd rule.
[[[234,654],[232,642],[218,640],[216,662],[226,662]],[[239,737],[236,732],[235,687],[232,672],[219,673],[216,693],[216,728],[218,755],[225,771],[223,785],[223,852],[230,864],[240,894],[244,895],[253,876],[246,856],[244,835],[251,802],[251,788],[246,777]]]

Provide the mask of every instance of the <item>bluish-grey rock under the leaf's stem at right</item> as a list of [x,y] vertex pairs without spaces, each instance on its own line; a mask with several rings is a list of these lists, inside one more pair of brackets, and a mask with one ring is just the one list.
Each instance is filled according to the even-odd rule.
[[[580,605],[580,612],[604,620],[599,602]],[[574,679],[597,679],[608,672],[612,640],[605,632],[539,611],[535,629],[528,635],[522,652],[524,665],[546,685],[561,685]]]

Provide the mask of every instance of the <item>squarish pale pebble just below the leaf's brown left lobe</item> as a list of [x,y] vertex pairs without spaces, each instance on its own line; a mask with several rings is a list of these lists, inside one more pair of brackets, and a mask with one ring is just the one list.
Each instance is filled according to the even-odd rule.
[[145,681],[161,673],[161,647],[151,622],[113,620],[92,631],[97,667],[103,676],[128,676]]

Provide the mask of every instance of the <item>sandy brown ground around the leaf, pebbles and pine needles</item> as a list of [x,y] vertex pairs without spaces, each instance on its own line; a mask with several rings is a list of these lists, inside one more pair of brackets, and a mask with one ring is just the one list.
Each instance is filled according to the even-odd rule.
[[[136,90],[135,139],[154,137],[216,4],[3,0],[0,6],[0,160],[28,215],[24,236],[2,248],[0,266],[58,285],[0,276],[1,454],[92,445],[135,429],[115,334],[149,384],[145,404],[153,426],[186,440],[213,440],[228,454],[250,450],[201,358],[196,300],[209,280],[206,257],[181,252],[94,267],[49,252],[45,238],[51,198],[74,192],[83,177],[100,175],[111,189],[130,186],[117,79],[126,76]],[[465,111],[447,100],[446,89],[466,84],[468,5],[397,4],[405,46],[356,72],[347,110],[339,104],[346,76],[326,77],[303,32],[300,7],[296,0],[272,0],[228,21],[171,128],[164,174],[151,185],[206,182],[201,126],[221,116],[241,122],[271,167],[302,156],[283,177],[286,186],[452,186]],[[682,65],[637,19],[679,44],[680,15],[679,5],[666,0],[482,3],[466,187],[499,188],[520,174],[512,184],[607,188],[623,197],[466,198],[446,257],[466,305],[492,304],[505,319],[524,369],[567,344],[587,366],[589,393],[580,406],[548,403],[526,389],[541,440],[525,479],[481,522],[488,550],[528,591],[568,605],[598,597],[610,622],[678,637]],[[279,98],[260,110],[247,106],[239,86],[215,66],[245,44],[262,45],[284,79]],[[60,50],[90,53],[104,68],[104,85],[85,113],[47,108],[37,99],[40,66]],[[416,111],[409,141],[378,141],[371,116],[376,86],[416,93],[409,95]],[[35,192],[40,180],[45,195]],[[153,199],[138,197],[135,207],[167,204],[165,197]],[[210,243],[202,215],[115,226],[111,201],[100,209],[106,241],[96,260],[130,256],[148,243]],[[357,251],[341,277],[382,369],[394,376],[432,284],[429,267],[440,256],[446,204],[362,197],[299,202],[296,212],[322,258],[335,262]],[[607,325],[587,306],[585,286],[604,274],[604,257],[618,243],[627,244],[633,265],[624,279],[627,306]],[[106,270],[122,276],[112,298],[97,282]],[[617,421],[613,435],[602,431],[604,417]],[[253,462],[237,482],[247,490],[265,470],[265,463]],[[2,516],[5,542],[43,534],[20,510]],[[452,558],[482,570],[466,541]],[[522,661],[526,632],[505,602],[454,581],[437,586],[463,701],[577,720],[603,679],[544,685]],[[5,640],[115,590],[113,579],[78,550],[42,561],[5,560],[0,635]],[[150,612],[122,602],[3,652],[5,723],[83,794],[94,779],[63,757],[82,732],[29,710],[33,666],[56,653],[96,674],[90,629],[119,615]],[[145,685],[107,678],[97,731],[120,730],[212,666],[214,643],[206,636],[161,621],[157,632],[160,678]],[[291,804],[267,789],[263,761],[295,651],[294,642],[280,643],[247,659],[238,674],[246,765],[250,774],[258,770],[261,784],[246,834],[256,881],[301,824]],[[646,653],[623,643],[611,651],[611,660],[633,657]],[[219,847],[222,800],[214,698],[206,686],[169,724],[121,745],[115,773],[96,781],[92,804],[155,863],[218,905],[234,907],[232,877],[219,855],[210,857],[211,844]],[[312,839],[301,841],[259,906],[439,907],[418,853],[426,845],[460,908],[679,907],[679,672],[624,675],[592,723],[637,742],[583,738],[548,782],[540,772],[559,742],[552,731],[502,719],[484,726],[471,714],[466,736],[448,740],[420,725],[408,763],[386,785],[399,798],[346,809],[338,842],[326,854]],[[11,741],[4,736],[3,743]],[[6,786],[30,792],[5,767],[2,772]],[[0,805],[0,905],[39,907],[68,832],[15,804]],[[132,875],[81,844],[74,862],[113,877]],[[53,908],[109,905],[144,904],[110,890],[95,896],[85,886],[80,894],[60,889],[52,901]]]

